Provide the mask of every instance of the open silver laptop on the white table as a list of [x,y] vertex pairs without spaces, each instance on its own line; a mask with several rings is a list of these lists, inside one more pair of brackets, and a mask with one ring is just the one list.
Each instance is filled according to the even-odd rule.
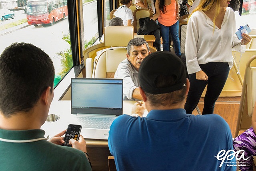
[[123,80],[72,78],[71,113],[84,138],[108,139],[112,121],[123,113]]

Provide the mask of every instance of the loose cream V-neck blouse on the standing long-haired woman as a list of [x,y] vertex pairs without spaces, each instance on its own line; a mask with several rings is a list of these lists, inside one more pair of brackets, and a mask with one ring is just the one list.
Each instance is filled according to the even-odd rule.
[[241,40],[235,35],[234,11],[227,7],[221,29],[213,32],[213,22],[202,10],[192,14],[186,32],[186,65],[188,74],[201,70],[199,64],[228,62],[233,66],[232,50],[242,52]]

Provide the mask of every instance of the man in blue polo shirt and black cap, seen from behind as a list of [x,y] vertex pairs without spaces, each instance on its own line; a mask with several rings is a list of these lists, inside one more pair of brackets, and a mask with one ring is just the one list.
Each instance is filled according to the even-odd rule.
[[[215,114],[186,114],[189,81],[180,58],[154,52],[142,61],[138,77],[149,113],[146,117],[122,115],[112,123],[108,146],[117,170],[236,170],[226,121]],[[142,116],[139,111],[134,114]]]

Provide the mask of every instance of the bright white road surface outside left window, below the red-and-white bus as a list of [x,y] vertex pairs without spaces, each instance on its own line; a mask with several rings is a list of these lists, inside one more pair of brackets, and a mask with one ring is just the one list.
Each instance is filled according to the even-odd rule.
[[[8,20],[7,20],[8,21]],[[0,36],[0,53],[14,42],[26,42],[38,46],[52,59],[56,74],[61,71],[60,58],[57,53],[70,48],[69,44],[62,40],[63,34],[69,33],[68,20],[56,22],[53,26],[33,25],[16,30],[4,36]]]

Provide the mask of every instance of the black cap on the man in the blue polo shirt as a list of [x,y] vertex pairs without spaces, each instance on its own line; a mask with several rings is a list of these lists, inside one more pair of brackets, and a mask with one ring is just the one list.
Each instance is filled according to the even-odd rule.
[[[156,87],[158,76],[173,76],[176,83],[168,87]],[[186,86],[186,70],[182,60],[168,51],[149,54],[139,69],[140,87],[147,93],[162,94],[182,89]]]

